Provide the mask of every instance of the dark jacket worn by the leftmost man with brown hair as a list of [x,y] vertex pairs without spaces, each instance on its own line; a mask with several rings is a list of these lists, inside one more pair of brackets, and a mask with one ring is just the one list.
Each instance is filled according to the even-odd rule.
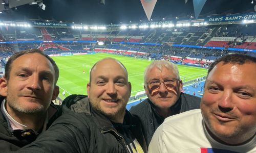
[[[0,97],[0,106],[2,104],[2,101],[5,97]],[[51,103],[50,107],[53,109],[56,109],[57,107],[53,103]],[[49,127],[50,124],[53,122],[53,120],[57,118],[57,116],[52,116],[52,118],[49,120],[47,126]],[[8,122],[3,115],[3,113],[0,111],[0,150],[2,151],[15,151],[18,150],[20,147],[23,147],[29,143],[31,143],[34,138],[32,137],[19,137],[21,135],[16,133],[17,131],[13,131],[11,127],[9,127]],[[35,136],[36,137],[36,136]]]

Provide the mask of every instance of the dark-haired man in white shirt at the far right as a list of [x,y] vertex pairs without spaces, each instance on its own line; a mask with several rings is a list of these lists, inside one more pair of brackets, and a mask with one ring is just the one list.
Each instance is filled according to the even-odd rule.
[[256,152],[256,58],[227,55],[212,63],[201,111],[165,119],[148,152]]

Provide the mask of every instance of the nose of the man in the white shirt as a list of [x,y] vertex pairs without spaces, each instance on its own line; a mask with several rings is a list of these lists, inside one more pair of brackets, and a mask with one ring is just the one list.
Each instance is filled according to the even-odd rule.
[[222,111],[230,111],[233,109],[232,94],[229,91],[224,91],[218,100],[218,106]]

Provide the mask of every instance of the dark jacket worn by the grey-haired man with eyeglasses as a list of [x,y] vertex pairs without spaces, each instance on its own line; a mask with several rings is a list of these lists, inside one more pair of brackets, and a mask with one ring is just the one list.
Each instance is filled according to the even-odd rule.
[[[175,105],[170,107],[170,109],[172,109],[173,115],[199,109],[200,101],[201,98],[199,97],[181,93]],[[154,132],[157,130],[157,127],[163,123],[164,118],[157,113],[155,106],[148,98],[143,100],[140,104],[133,106],[130,112],[140,118],[146,144],[147,146],[150,145]]]

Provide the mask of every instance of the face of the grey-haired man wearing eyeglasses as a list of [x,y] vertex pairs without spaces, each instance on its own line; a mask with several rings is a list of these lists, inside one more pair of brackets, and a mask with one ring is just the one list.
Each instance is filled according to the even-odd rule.
[[[158,69],[157,67],[153,67],[150,71],[147,72],[146,75],[147,83],[151,80],[178,78],[172,69],[167,69],[164,66],[162,67],[162,70]],[[160,109],[166,109],[172,107],[179,99],[182,89],[182,81],[177,81],[177,86],[174,88],[166,88],[164,83],[160,83],[159,88],[157,90],[154,90],[153,92],[151,89],[148,88],[148,84],[144,85],[144,88],[147,97],[152,101],[155,106]]]

